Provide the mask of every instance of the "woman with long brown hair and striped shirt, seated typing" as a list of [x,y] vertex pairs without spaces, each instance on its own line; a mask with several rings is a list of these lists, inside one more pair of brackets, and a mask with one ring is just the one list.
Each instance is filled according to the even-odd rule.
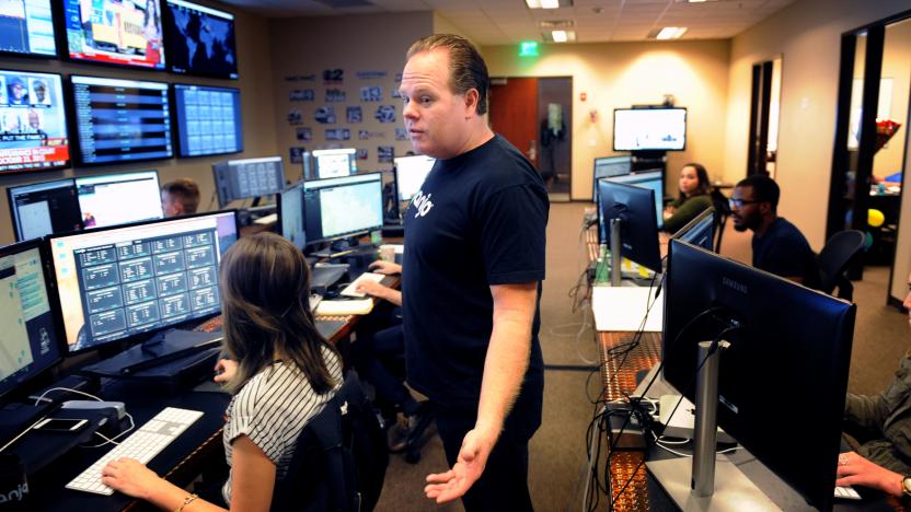
[[269,510],[301,431],[342,385],[341,358],[316,330],[310,270],[293,244],[274,233],[239,240],[219,286],[230,359],[219,361],[216,381],[234,395],[223,435],[228,481],[209,503],[131,458],[102,470],[104,485],[160,509]]

